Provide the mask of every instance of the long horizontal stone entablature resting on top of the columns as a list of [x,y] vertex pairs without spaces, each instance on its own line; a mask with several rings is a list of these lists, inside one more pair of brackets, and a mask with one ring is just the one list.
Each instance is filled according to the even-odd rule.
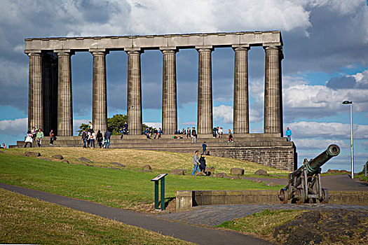
[[228,33],[169,34],[148,36],[86,36],[25,38],[25,52],[41,50],[144,50],[182,48],[221,48],[282,46],[280,31],[242,31]]

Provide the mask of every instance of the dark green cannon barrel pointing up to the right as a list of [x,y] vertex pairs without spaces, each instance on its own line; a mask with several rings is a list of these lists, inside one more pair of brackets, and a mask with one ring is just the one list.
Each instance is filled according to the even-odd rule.
[[[316,174],[318,172],[318,169],[320,169],[322,165],[324,165],[331,158],[336,157],[336,155],[339,155],[339,153],[339,146],[335,144],[329,145],[326,151],[320,153],[320,155],[315,157],[313,160],[307,162],[306,165],[299,167],[299,169],[289,174],[288,181],[292,182],[294,176],[300,176],[304,169],[306,169],[307,176],[312,176],[313,174]],[[299,182],[299,178],[297,182]]]

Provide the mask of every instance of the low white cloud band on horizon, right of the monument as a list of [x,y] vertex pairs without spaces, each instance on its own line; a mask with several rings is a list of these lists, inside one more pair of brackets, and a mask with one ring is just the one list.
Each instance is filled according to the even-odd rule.
[[[285,127],[292,129],[294,139],[314,137],[350,139],[350,124],[298,122],[289,123]],[[368,125],[353,125],[353,134],[354,139],[368,139]]]

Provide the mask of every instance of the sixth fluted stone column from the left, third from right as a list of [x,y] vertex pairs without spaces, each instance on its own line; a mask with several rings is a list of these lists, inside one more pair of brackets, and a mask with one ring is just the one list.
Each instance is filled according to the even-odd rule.
[[210,48],[198,48],[198,134],[212,133],[212,64]]

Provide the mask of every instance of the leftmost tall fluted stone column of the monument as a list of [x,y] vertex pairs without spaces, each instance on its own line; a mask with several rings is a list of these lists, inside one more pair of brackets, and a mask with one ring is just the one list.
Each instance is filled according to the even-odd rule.
[[43,128],[42,58],[39,52],[29,52],[28,128]]

